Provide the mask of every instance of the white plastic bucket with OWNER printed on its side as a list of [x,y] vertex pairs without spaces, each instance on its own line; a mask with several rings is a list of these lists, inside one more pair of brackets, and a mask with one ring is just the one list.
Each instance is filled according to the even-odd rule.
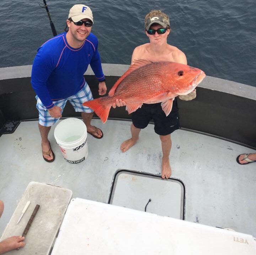
[[66,162],[78,164],[87,158],[87,129],[84,121],[76,118],[60,121],[54,130],[54,137]]

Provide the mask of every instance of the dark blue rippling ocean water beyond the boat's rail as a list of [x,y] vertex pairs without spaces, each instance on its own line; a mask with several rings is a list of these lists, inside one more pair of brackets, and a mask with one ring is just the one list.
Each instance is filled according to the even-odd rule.
[[[39,2],[0,1],[0,67],[31,65],[37,48],[52,37]],[[47,0],[57,33],[63,32],[70,7],[80,3],[93,11],[102,63],[130,64],[133,49],[148,42],[145,15],[160,9],[170,17],[168,43],[186,54],[189,65],[256,86],[255,0]]]

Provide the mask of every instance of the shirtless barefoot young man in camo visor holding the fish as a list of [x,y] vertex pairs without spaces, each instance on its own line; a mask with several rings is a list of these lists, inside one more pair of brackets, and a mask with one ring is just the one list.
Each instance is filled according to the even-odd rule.
[[[159,11],[152,10],[145,17],[145,33],[149,43],[136,47],[132,54],[132,64],[136,59],[156,61],[173,61],[187,64],[185,54],[178,48],[167,44],[167,37],[170,33],[169,17]],[[187,99],[185,99],[187,100]],[[117,100],[116,106],[123,106],[126,103]],[[145,128],[153,119],[155,132],[160,136],[162,145],[162,178],[168,179],[171,176],[169,155],[171,151],[171,133],[180,128],[177,99],[174,99],[171,113],[166,116],[161,108],[161,103],[143,104],[141,108],[132,113],[131,133],[132,137],[121,144],[122,152],[127,151],[139,139],[140,130]]]

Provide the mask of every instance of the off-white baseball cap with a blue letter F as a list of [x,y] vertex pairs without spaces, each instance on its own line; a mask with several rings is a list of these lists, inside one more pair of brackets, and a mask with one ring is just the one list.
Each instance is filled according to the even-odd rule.
[[83,4],[76,4],[69,10],[68,18],[72,18],[74,22],[78,22],[83,18],[89,18],[93,22],[92,11],[90,7]]

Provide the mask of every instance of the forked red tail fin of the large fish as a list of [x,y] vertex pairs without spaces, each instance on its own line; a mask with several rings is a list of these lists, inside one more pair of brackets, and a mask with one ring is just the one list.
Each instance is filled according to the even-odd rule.
[[101,121],[105,123],[110,112],[112,105],[104,105],[102,98],[96,98],[87,102],[84,102],[83,105],[91,108],[100,117]]

